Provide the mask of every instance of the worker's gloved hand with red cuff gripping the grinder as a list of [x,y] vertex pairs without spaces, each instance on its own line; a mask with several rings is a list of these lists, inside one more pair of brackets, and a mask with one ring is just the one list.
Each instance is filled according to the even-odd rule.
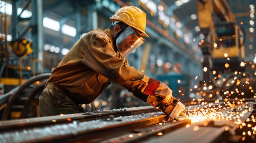
[[155,79],[150,78],[150,83],[144,91],[144,94],[151,95],[151,96],[158,96],[159,102],[169,105],[172,103],[172,93],[171,90],[166,84],[162,83],[161,81],[157,81]]

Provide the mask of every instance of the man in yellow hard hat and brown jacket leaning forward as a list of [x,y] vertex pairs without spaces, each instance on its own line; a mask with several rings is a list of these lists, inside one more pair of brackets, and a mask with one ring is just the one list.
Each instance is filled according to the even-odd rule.
[[126,6],[110,20],[110,28],[83,35],[52,71],[39,97],[41,117],[84,112],[80,105],[94,101],[111,81],[145,102],[152,95],[160,103],[172,103],[166,84],[139,72],[125,58],[149,37],[146,13]]

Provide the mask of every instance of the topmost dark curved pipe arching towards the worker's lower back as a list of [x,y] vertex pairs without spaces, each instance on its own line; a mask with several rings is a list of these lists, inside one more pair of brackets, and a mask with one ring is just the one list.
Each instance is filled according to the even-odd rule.
[[17,99],[17,97],[20,94],[20,92],[22,92],[30,84],[33,84],[35,81],[42,80],[42,79],[47,79],[47,78],[50,77],[50,75],[51,75],[51,73],[43,73],[43,74],[39,74],[39,75],[36,75],[34,77],[31,77],[25,83],[23,83],[20,86],[16,87],[17,90],[13,90],[13,94],[11,94],[9,92],[9,93],[7,93],[7,95],[3,95],[4,97],[7,98],[8,94],[10,94],[9,95],[10,97],[9,97],[9,101],[7,103],[7,106],[4,109],[4,114],[2,116],[2,120],[8,120],[9,119],[10,112],[11,112],[11,106],[13,105],[13,102]]

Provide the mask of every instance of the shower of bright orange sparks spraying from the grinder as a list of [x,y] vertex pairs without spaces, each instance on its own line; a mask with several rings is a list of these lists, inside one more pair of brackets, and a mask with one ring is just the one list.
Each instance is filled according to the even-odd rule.
[[[244,63],[240,66],[244,66]],[[204,72],[206,71],[204,70]],[[190,90],[196,91],[198,97],[192,99],[191,106],[186,109],[185,114],[191,119],[192,124],[206,120],[231,121],[238,128],[245,130],[241,133],[242,140],[245,141],[248,136],[256,134],[254,115],[244,121],[245,115],[248,112],[251,113],[253,106],[252,103],[248,104],[246,99],[250,98],[252,101],[256,101],[255,81],[248,74],[238,71],[230,73],[229,76],[223,76],[216,71],[213,71],[212,74],[214,83],[204,81],[201,86],[195,85],[194,89]]]

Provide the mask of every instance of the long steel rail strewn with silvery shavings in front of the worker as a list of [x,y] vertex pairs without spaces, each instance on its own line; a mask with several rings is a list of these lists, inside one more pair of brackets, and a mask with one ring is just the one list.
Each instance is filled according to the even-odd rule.
[[[165,121],[166,115],[152,106],[97,110],[83,114],[67,114],[53,117],[22,119],[0,122],[0,143],[75,142],[86,139],[98,143],[139,132],[143,136],[154,134],[151,130],[168,126],[168,130],[190,124],[190,119]],[[148,130],[149,132],[145,132]],[[99,138],[100,136],[100,138]],[[135,136],[135,135],[134,135]],[[137,133],[136,139],[140,139]],[[135,139],[135,138],[133,138]]]

